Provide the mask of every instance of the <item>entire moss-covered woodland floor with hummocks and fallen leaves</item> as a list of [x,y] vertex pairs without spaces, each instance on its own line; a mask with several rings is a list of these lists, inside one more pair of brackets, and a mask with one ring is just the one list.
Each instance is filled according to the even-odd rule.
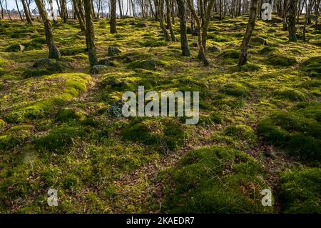
[[[247,20],[210,22],[203,66],[197,36],[183,57],[157,22],[122,19],[110,34],[101,19],[96,74],[76,21],[54,26],[60,61],[45,59],[40,21],[1,21],[0,212],[321,212],[321,34],[289,43],[282,23],[258,20],[238,67]],[[138,85],[200,91],[200,122],[108,114]]]

